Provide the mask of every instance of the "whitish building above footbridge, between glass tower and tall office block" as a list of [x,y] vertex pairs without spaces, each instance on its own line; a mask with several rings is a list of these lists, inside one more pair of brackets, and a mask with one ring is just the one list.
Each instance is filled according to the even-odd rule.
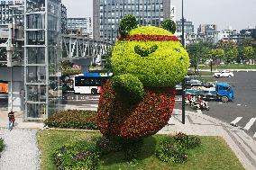
[[68,31],[82,29],[82,35],[93,38],[92,18],[68,18]]

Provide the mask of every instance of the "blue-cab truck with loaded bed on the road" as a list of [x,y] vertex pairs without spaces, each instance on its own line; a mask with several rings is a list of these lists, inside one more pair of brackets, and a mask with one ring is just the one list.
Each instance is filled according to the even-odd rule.
[[223,103],[233,101],[234,91],[232,85],[216,83],[212,86],[197,86],[186,90],[186,94],[200,96],[204,99],[221,100]]

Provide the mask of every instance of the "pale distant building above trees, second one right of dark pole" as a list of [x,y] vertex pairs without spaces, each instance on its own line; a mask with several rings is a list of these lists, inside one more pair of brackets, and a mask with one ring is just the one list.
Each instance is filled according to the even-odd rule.
[[220,31],[217,30],[216,24],[200,24],[197,29],[197,37],[201,40],[213,40],[216,42],[219,39]]

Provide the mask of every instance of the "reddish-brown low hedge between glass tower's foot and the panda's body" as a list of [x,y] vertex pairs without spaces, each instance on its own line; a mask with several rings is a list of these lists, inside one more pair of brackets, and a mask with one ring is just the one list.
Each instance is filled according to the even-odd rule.
[[97,130],[95,111],[59,111],[45,121],[53,128]]

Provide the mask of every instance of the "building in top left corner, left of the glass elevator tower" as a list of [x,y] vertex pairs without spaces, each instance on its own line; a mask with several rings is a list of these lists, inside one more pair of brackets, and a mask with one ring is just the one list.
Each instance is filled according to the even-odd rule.
[[0,24],[23,24],[24,1],[5,0],[0,4]]

